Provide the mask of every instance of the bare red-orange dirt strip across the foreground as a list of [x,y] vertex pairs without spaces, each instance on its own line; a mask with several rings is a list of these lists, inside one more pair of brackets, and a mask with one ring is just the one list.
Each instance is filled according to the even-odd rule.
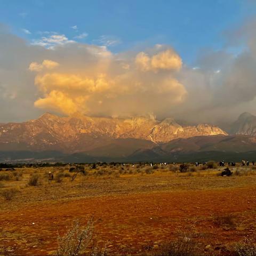
[[[223,229],[214,215],[233,213],[239,229]],[[4,254],[47,254],[56,249],[74,218],[83,225],[94,216],[97,241],[112,253],[129,247],[134,253],[147,244],[171,238],[177,228],[194,225],[209,243],[241,239],[255,232],[256,187],[97,196],[75,201],[37,203],[0,215],[0,249]],[[34,223],[34,224],[33,224]],[[208,242],[208,241],[207,241]],[[113,245],[113,247],[112,247]]]

